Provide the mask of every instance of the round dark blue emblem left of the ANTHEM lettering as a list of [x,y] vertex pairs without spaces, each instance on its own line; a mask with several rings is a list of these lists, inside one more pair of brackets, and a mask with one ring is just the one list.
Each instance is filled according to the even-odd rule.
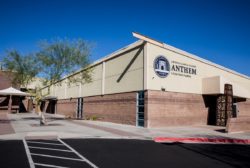
[[167,60],[167,58],[163,57],[163,56],[159,56],[155,59],[154,61],[154,69],[155,69],[155,73],[161,77],[161,78],[165,78],[168,76],[169,74],[169,62]]

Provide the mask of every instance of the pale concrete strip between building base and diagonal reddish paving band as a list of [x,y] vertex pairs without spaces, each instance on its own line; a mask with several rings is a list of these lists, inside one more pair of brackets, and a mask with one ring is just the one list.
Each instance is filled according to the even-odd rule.
[[207,138],[239,138],[250,139],[250,132],[248,133],[225,133],[224,127],[218,126],[183,126],[183,127],[166,127],[166,128],[143,128],[123,124],[115,124],[101,121],[86,121],[75,120],[74,122],[86,125],[91,124],[101,128],[109,128],[124,132],[130,132],[141,137],[150,139],[155,137],[207,137]]

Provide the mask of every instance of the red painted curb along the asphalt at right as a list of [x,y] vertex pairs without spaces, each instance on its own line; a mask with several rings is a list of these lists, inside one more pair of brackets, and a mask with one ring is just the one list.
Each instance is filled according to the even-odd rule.
[[250,139],[227,139],[227,138],[177,138],[177,137],[156,137],[155,142],[160,143],[214,143],[214,144],[250,144]]

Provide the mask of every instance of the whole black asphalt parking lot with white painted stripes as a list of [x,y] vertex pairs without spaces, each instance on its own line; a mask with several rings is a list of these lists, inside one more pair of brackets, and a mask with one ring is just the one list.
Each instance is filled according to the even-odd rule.
[[159,144],[149,140],[63,139],[0,141],[1,167],[250,167],[249,145]]

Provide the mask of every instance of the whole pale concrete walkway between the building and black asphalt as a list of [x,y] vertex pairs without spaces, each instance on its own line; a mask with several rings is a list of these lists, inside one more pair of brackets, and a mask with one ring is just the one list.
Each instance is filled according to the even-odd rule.
[[59,138],[131,138],[148,140],[156,137],[250,139],[250,133],[223,133],[221,132],[223,127],[215,126],[141,128],[101,121],[65,120],[55,115],[46,115],[48,125],[40,126],[40,117],[35,113],[8,114],[7,116],[15,132],[5,135],[0,133],[0,139],[49,136]]

